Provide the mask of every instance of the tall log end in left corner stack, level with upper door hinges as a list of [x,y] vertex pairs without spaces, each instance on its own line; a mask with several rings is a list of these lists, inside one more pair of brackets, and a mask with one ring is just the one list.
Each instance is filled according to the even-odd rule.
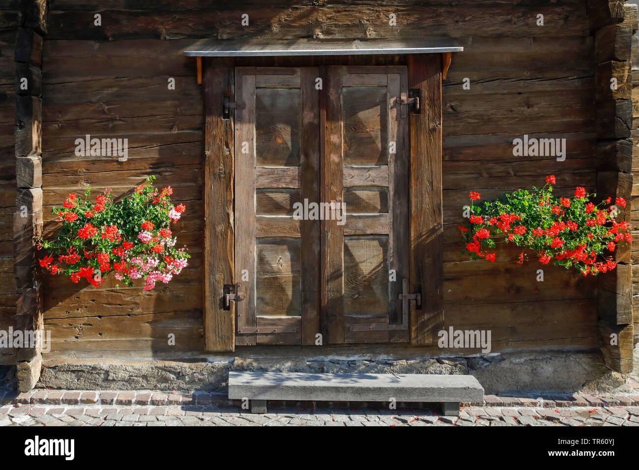
[[42,153],[42,100],[16,97],[15,156]]

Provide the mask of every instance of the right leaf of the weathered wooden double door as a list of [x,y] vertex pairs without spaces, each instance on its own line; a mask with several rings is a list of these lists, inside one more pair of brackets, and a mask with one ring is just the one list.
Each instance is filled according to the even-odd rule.
[[324,224],[327,341],[407,341],[407,70],[329,67],[327,79],[326,197],[346,203],[344,225]]

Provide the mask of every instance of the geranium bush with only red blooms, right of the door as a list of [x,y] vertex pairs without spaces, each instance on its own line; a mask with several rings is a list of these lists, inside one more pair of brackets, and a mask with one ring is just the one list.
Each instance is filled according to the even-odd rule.
[[615,269],[611,253],[617,244],[632,240],[631,225],[615,220],[626,201],[617,198],[612,204],[608,198],[595,205],[589,198],[596,194],[587,194],[583,187],[570,198],[557,199],[553,184],[555,176],[550,175],[541,189],[520,189],[477,205],[481,194],[470,192],[470,217],[459,226],[466,239],[461,253],[495,262],[496,253],[490,252],[505,242],[524,247],[518,263],[523,263],[528,250],[542,264],[552,261],[566,269],[574,267],[583,276]]

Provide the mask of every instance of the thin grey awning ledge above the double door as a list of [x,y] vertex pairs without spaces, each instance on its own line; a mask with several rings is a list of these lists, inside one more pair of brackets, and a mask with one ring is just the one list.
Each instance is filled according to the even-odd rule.
[[461,52],[463,47],[445,44],[428,44],[420,38],[373,40],[326,39],[203,39],[184,51],[185,56],[195,57],[250,57],[250,56],[328,56],[363,54],[436,54]]

